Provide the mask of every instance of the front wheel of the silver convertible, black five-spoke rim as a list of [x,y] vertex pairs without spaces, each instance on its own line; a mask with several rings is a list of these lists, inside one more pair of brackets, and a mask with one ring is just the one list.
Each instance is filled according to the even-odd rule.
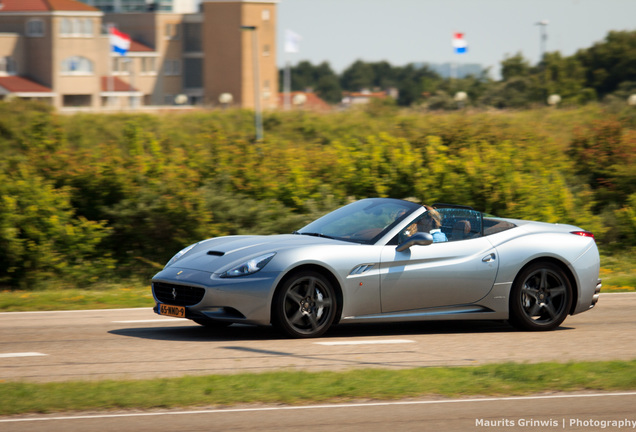
[[294,338],[324,334],[338,309],[336,293],[326,277],[303,271],[287,279],[274,296],[272,323]]

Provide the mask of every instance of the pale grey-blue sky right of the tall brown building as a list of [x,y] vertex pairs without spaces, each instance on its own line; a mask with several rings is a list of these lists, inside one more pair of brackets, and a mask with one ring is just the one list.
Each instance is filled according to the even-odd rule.
[[[636,30],[636,0],[280,0],[278,66],[329,62],[341,73],[356,60],[478,63],[499,74],[501,61],[521,53],[539,61],[546,51],[564,56],[605,39],[611,30]],[[300,51],[285,53],[285,30],[301,36]],[[455,54],[455,32],[466,54]]]

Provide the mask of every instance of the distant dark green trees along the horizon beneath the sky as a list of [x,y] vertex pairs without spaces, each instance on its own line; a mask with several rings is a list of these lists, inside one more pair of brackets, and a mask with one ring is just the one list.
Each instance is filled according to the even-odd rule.
[[[490,78],[489,70],[479,76],[449,79],[413,64],[396,67],[358,60],[336,74],[327,62],[314,66],[301,61],[291,67],[291,89],[313,89],[325,101],[336,104],[343,92],[394,88],[399,91],[398,105],[435,110],[527,108],[545,105],[550,95],[559,95],[560,105],[565,106],[593,101],[626,104],[636,93],[636,31],[610,32],[605,40],[572,56],[550,52],[532,65],[518,53],[503,59],[500,66],[500,80]],[[283,75],[281,70],[281,89]],[[458,92],[468,97],[458,103]]]

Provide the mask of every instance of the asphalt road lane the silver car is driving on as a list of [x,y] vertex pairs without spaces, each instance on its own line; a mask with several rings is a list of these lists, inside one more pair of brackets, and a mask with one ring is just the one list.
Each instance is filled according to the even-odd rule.
[[213,332],[151,309],[0,313],[0,380],[155,378],[267,370],[344,370],[494,362],[636,359],[636,293],[601,294],[551,332],[501,322],[343,325],[325,337],[272,328]]

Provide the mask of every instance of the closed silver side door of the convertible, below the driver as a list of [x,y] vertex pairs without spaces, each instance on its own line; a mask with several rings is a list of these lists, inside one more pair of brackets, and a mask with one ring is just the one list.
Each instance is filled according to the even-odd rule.
[[382,312],[474,303],[491,290],[498,269],[496,250],[484,237],[382,249]]

